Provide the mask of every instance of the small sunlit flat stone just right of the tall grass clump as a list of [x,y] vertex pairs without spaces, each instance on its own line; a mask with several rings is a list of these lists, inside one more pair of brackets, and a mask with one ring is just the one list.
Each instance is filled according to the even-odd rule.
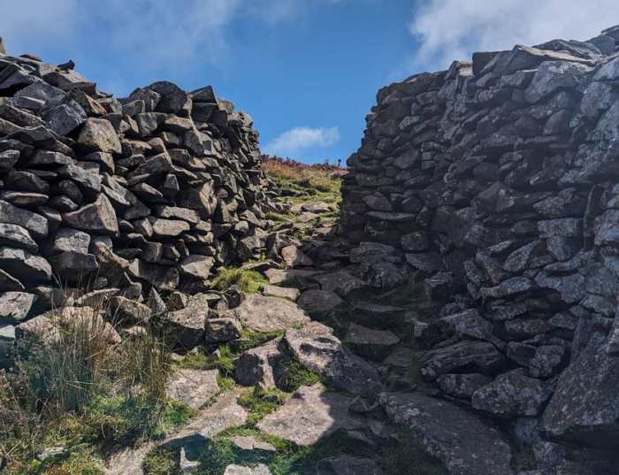
[[192,409],[200,409],[218,394],[218,374],[218,370],[179,370],[172,375],[165,393],[174,401],[182,402]]

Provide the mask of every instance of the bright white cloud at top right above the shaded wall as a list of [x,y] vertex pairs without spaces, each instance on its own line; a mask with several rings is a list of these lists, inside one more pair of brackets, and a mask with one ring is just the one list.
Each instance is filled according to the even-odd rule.
[[619,23],[617,0],[424,0],[409,25],[421,41],[416,62],[447,67],[476,50],[555,38],[587,40]]

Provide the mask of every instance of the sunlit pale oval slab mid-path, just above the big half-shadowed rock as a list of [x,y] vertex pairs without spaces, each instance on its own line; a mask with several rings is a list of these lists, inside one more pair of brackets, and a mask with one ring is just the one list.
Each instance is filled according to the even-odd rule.
[[288,330],[310,322],[310,317],[295,303],[265,295],[249,295],[233,311],[242,326],[255,332]]

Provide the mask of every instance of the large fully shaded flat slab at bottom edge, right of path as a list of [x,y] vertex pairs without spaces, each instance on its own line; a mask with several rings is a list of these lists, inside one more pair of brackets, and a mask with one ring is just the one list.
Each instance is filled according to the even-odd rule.
[[513,475],[511,449],[499,430],[452,402],[416,393],[383,393],[388,418],[404,425],[453,475]]

